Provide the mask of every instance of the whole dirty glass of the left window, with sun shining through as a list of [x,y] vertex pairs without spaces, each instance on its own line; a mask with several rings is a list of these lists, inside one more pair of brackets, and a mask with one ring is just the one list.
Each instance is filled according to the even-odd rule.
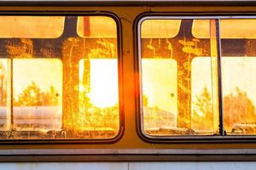
[[0,139],[115,137],[115,21],[73,15],[1,20],[9,30],[0,22]]

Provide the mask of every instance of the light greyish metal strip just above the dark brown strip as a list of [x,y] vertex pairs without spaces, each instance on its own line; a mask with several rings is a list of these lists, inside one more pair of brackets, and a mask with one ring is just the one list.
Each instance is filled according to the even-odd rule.
[[54,155],[256,155],[256,149],[23,149],[0,150],[0,156]]

